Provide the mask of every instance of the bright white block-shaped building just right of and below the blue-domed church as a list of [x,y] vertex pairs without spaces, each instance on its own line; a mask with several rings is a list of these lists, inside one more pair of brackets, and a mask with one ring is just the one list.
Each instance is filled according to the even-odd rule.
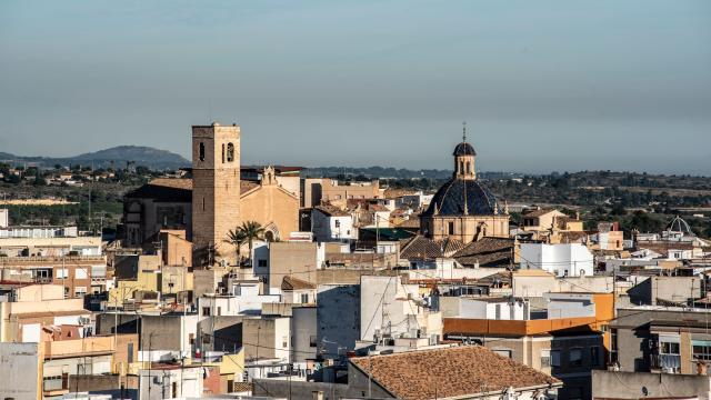
[[591,277],[594,257],[580,243],[521,243],[521,269],[542,269],[557,277]]

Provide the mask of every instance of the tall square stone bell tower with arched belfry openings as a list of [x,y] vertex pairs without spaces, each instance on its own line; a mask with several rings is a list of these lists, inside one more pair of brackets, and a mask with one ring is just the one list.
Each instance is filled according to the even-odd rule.
[[226,243],[240,220],[240,127],[192,127],[193,266],[233,263]]

